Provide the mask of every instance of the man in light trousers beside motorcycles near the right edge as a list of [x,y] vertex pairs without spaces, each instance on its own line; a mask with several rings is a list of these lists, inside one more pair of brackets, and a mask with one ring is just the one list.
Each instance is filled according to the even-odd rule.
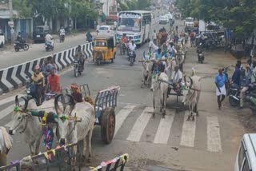
[[240,108],[243,108],[243,99],[246,96],[246,91],[249,89],[249,79],[246,76],[246,70],[242,69],[241,70],[241,75],[240,75]]

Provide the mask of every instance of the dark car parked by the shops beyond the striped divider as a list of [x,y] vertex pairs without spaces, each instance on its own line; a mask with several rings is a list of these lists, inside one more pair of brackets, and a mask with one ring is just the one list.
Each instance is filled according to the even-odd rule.
[[34,42],[45,42],[46,34],[50,33],[50,27],[49,26],[35,26],[34,27],[34,33],[33,33],[33,39]]

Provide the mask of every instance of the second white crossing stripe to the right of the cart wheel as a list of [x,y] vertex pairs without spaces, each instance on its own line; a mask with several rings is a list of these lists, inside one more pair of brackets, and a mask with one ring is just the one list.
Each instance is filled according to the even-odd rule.
[[144,132],[148,121],[150,121],[150,117],[152,117],[153,111],[154,109],[152,107],[146,107],[146,109],[144,109],[126,140],[138,142],[141,139],[142,133]]

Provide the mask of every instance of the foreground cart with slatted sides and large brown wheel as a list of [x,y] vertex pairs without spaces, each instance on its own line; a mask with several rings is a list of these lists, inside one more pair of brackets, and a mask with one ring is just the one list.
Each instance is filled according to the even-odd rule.
[[[95,100],[90,97],[89,85],[79,85],[81,93],[85,101],[94,105],[94,111],[96,116],[95,125],[101,126],[102,141],[106,144],[110,144],[114,137],[115,129],[115,113],[114,109],[117,106],[118,92],[120,86],[112,86],[109,89],[103,89],[98,91]],[[70,94],[70,89],[62,89],[62,94]]]

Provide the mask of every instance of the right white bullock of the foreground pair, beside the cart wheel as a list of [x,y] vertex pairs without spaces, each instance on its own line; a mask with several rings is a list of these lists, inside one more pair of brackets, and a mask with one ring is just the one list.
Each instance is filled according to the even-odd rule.
[[[96,121],[94,106],[84,101],[76,103],[75,105],[67,105],[64,113],[60,113],[59,111],[57,111],[57,113],[60,144],[65,145],[83,141],[82,154],[85,156],[88,143],[90,157],[91,137]],[[81,121],[78,122],[75,119],[76,117],[81,118]],[[86,138],[87,135],[89,135],[88,138]]]

